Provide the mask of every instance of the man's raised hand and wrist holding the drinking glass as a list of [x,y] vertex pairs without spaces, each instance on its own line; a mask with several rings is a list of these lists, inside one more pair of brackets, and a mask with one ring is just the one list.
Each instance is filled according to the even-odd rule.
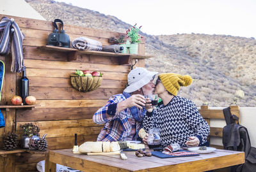
[[131,108],[132,106],[136,106],[137,108],[143,109],[143,106],[145,106],[146,101],[145,98],[140,94],[134,94],[128,99],[125,99],[124,101],[121,101],[116,105],[116,113],[119,113],[122,110],[125,110],[126,108]]

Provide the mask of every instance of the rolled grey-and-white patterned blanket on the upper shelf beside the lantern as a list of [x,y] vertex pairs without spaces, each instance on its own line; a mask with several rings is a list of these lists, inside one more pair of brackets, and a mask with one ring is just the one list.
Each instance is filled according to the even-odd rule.
[[77,48],[78,50],[94,50],[101,51],[102,43],[94,39],[79,37],[72,41],[72,47]]

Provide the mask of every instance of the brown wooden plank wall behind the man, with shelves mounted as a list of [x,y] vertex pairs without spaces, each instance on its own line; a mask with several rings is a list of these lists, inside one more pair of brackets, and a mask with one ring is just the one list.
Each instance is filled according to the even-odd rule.
[[[3,15],[0,17],[2,18]],[[53,30],[52,22],[6,17],[14,18],[25,36],[24,66],[27,67],[29,78],[29,95],[35,96],[36,104],[40,106],[35,110],[3,111],[6,127],[0,129],[1,137],[10,131],[16,131],[20,138],[19,126],[33,122],[40,127],[40,136],[47,133],[49,149],[72,148],[75,133],[78,134],[79,144],[84,141],[95,141],[102,125],[94,124],[92,115],[108,101],[111,95],[124,90],[130,66],[118,65],[118,57],[86,54],[79,55],[76,61],[68,62],[65,54],[61,52],[47,52],[37,48],[46,45],[47,37]],[[97,39],[102,45],[108,45],[109,37],[121,34],[74,25],[65,25],[64,29],[71,41],[84,36]],[[139,45],[139,54],[145,54],[144,49],[145,41],[143,40]],[[19,94],[21,75],[10,72],[10,57],[1,56],[0,58],[6,62],[1,104],[10,104],[11,97]],[[144,64],[144,60],[140,59],[136,66],[144,67]],[[76,69],[101,71],[102,84],[92,92],[78,92],[70,85],[69,78]],[[2,141],[0,144],[2,145]],[[35,171],[36,162],[43,159],[44,155],[29,153],[0,157],[0,171]],[[11,164],[12,169],[7,169],[6,163]]]

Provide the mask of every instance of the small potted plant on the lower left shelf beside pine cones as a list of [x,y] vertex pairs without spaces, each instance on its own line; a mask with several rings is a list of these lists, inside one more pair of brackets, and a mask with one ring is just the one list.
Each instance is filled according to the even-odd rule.
[[39,127],[32,124],[32,123],[26,123],[24,125],[20,125],[22,128],[22,138],[21,138],[21,147],[22,148],[29,148],[28,143],[29,139],[33,138],[34,140],[39,140]]

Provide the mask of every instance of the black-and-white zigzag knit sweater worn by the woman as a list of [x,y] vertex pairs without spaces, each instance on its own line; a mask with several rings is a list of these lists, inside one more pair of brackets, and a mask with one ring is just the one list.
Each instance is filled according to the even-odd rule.
[[153,113],[147,112],[143,128],[148,133],[148,129],[153,127],[160,129],[163,147],[172,143],[179,143],[180,147],[184,147],[189,136],[198,137],[201,146],[210,133],[209,125],[200,115],[195,103],[179,96],[174,96],[166,106],[159,104]]

